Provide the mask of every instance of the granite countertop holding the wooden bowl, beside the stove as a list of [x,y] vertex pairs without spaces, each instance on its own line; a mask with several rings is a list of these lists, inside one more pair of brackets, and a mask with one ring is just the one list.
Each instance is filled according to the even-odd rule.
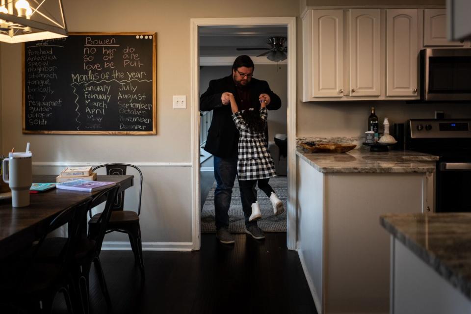
[[323,173],[434,172],[439,157],[412,151],[370,152],[354,149],[343,154],[310,153],[298,147],[296,155]]

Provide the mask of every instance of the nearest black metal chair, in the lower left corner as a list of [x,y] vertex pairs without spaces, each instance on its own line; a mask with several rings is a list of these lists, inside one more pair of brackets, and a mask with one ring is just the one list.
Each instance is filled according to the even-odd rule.
[[[69,313],[74,313],[76,291],[69,276],[69,265],[75,258],[79,237],[80,220],[86,215],[92,198],[78,207],[71,207],[58,214],[42,233],[39,242],[21,256],[8,261],[8,270],[2,275],[0,303],[9,303],[16,311],[27,313],[50,313],[52,302],[58,292],[63,292]],[[69,236],[53,260],[44,260],[42,251],[47,250],[46,236],[58,227],[69,224]],[[6,278],[5,278],[6,277]]]

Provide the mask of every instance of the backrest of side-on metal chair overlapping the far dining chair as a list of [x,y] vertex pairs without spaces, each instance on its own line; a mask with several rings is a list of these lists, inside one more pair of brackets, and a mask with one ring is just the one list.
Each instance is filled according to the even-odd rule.
[[102,249],[103,239],[105,238],[106,227],[108,225],[109,218],[111,217],[111,208],[113,207],[114,200],[116,198],[116,194],[120,184],[116,184],[115,186],[105,189],[98,193],[97,195],[93,196],[93,200],[88,207],[89,212],[91,212],[92,208],[99,205],[103,198],[106,199],[105,209],[103,209],[102,214],[98,218],[96,223],[97,229],[93,232],[88,232],[88,237],[91,240],[95,241],[95,249],[98,253],[100,253]]

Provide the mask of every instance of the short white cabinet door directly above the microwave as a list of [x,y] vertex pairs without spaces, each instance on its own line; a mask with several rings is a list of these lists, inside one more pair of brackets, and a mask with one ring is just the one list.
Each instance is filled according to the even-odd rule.
[[445,9],[423,10],[423,46],[463,46],[463,43],[446,38]]

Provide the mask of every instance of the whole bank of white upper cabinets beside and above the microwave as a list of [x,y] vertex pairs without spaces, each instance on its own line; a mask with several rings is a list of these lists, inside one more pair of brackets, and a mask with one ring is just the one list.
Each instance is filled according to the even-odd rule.
[[422,47],[446,40],[445,9],[307,9],[303,101],[419,99]]

